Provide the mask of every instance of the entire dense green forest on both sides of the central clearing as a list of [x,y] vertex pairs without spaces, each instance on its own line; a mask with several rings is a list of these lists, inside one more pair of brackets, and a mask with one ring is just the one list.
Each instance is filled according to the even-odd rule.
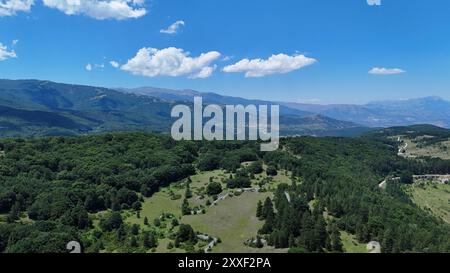
[[[268,174],[291,171],[294,183],[255,204],[265,221],[258,240],[291,252],[340,252],[339,231],[347,231],[360,242],[379,241],[384,252],[449,252],[449,225],[415,206],[398,183],[386,191],[378,183],[449,173],[450,162],[407,160],[396,149],[378,136],[286,138],[270,153],[255,142],[175,142],[146,133],[2,140],[0,252],[65,252],[72,240],[88,252],[102,251],[105,240],[148,251],[158,234],[125,224],[123,212],[139,213],[143,198],[198,171],[224,169],[228,188],[245,188],[263,163]],[[255,163],[242,169],[248,161]],[[217,194],[220,186],[211,181],[207,190]],[[196,240],[192,227],[165,218],[177,226],[176,244]]]

